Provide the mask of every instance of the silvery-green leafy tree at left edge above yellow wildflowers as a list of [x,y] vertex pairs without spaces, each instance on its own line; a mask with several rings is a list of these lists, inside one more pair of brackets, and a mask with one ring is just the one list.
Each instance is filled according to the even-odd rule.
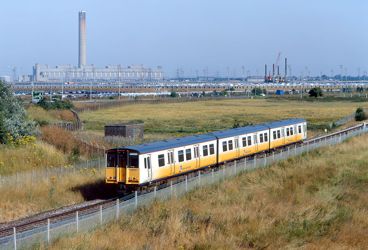
[[28,117],[21,98],[15,99],[9,91],[10,85],[0,81],[0,142],[6,143],[8,136],[37,136],[40,131],[33,119]]

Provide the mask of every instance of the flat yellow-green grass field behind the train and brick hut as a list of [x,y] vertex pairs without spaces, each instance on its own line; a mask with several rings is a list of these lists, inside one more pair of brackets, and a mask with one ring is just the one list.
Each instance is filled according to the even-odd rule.
[[136,104],[83,112],[84,128],[103,132],[105,124],[144,121],[146,133],[181,131],[196,133],[232,128],[234,124],[304,118],[308,123],[329,123],[355,111],[356,103],[301,103],[298,101],[272,102],[268,100],[197,101],[174,104]]

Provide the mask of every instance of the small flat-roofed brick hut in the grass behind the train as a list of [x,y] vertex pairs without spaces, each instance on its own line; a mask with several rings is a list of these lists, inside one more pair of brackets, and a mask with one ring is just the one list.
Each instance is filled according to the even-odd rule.
[[105,136],[122,136],[143,139],[143,123],[119,123],[105,125]]

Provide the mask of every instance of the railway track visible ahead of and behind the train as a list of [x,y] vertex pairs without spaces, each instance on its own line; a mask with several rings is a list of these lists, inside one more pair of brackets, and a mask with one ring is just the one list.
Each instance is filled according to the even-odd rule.
[[[349,127],[349,128],[342,129],[340,131],[329,133],[327,135],[316,136],[316,137],[313,137],[311,139],[305,140],[304,143],[322,142],[323,140],[325,140],[326,138],[328,138],[330,136],[332,137],[332,136],[348,133],[348,132],[351,132],[351,131],[354,131],[354,130],[358,130],[358,129],[363,128],[363,126],[368,126],[368,124],[365,125],[365,123],[364,123],[364,124],[360,124],[360,125],[355,125],[355,126],[352,126],[352,127]],[[78,212],[78,216],[83,216],[83,215],[91,214],[91,213],[96,212],[98,210],[113,207],[113,206],[116,205],[117,202],[119,202],[119,200],[117,200],[117,199],[120,198],[120,201],[129,200],[134,196],[135,196],[135,194],[133,193],[133,194],[126,195],[122,198],[121,197],[116,197],[116,198],[113,198],[113,199],[100,201],[98,203],[94,203],[94,204],[91,204],[91,205],[88,205],[88,206],[84,206],[84,207],[80,207],[80,208],[77,208],[77,209],[62,212],[60,214],[52,215],[52,216],[45,217],[45,218],[42,218],[42,219],[37,219],[35,221],[30,221],[30,222],[27,222],[27,223],[24,223],[24,224],[19,224],[19,225],[16,225],[16,226],[11,226],[11,227],[8,227],[8,228],[4,228],[4,229],[0,230],[0,238],[13,235],[14,228],[16,229],[17,233],[29,231],[31,229],[46,226],[47,223],[53,224],[53,223],[56,223],[56,222],[65,221],[67,219],[73,219],[73,218],[75,218],[77,212]]]

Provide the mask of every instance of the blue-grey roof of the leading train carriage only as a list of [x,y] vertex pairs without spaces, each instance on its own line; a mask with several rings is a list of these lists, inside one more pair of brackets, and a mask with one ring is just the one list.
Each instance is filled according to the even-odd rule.
[[[211,140],[216,140],[217,138],[213,135],[209,135],[208,133],[199,134],[199,135],[190,135],[184,136],[169,140],[163,140],[159,142],[149,142],[149,143],[142,143],[138,145],[132,145],[127,147],[121,147],[115,150],[134,150],[138,151],[139,154],[147,154],[161,150],[169,150],[173,147],[184,147],[187,145],[199,144],[202,142],[208,142]],[[109,149],[110,150],[110,149]],[[112,149],[113,150],[113,149]]]

